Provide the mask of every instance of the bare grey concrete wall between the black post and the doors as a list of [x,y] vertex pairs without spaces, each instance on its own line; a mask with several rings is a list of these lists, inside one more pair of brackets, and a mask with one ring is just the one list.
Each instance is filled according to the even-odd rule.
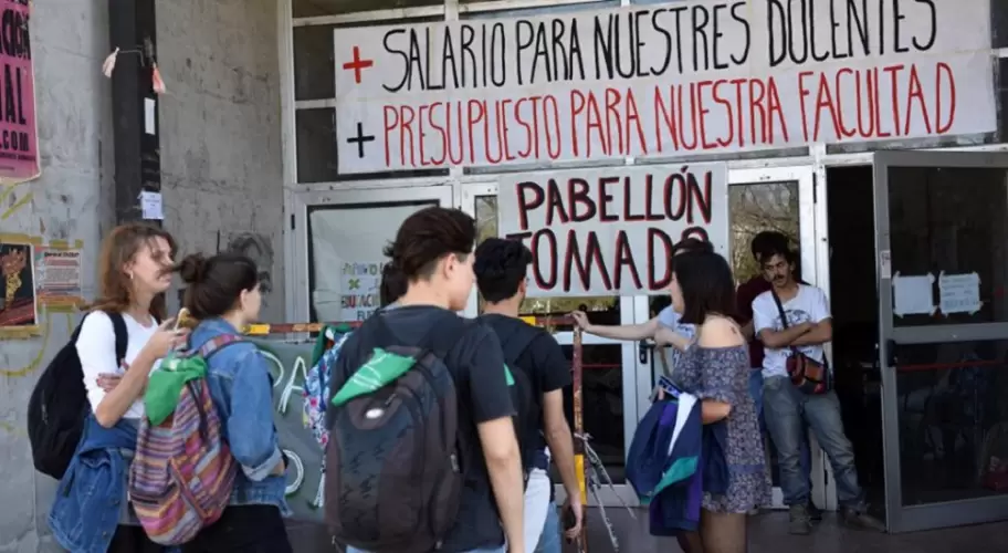
[[157,1],[165,226],[182,252],[260,262],[283,321],[283,175],[275,0]]

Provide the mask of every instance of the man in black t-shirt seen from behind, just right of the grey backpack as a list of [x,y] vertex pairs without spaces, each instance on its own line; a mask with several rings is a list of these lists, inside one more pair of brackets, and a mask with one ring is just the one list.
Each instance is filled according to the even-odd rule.
[[[556,458],[560,478],[567,491],[567,505],[576,524],[568,529],[568,536],[580,531],[581,492],[574,468],[574,441],[570,426],[564,415],[564,387],[571,383],[570,366],[564,351],[548,332],[518,319],[518,309],[525,300],[525,286],[532,252],[515,240],[490,238],[476,248],[476,286],[486,301],[481,320],[496,332],[504,352],[504,362],[512,371],[523,371],[532,387],[535,406],[519,428],[519,441],[527,484],[525,489],[525,545],[534,551],[543,534],[547,513],[556,513],[553,484],[549,481],[549,456]],[[511,358],[514,356],[514,358]],[[548,448],[547,448],[548,445]],[[543,535],[544,550],[553,549],[558,536]]]

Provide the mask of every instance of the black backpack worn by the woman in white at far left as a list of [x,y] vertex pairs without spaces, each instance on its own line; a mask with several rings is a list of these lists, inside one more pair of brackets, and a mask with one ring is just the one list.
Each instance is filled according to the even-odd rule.
[[[116,362],[122,363],[129,342],[126,322],[118,313],[106,315],[115,328]],[[35,470],[56,480],[62,479],[70,467],[84,432],[84,420],[91,411],[76,347],[81,325],[42,372],[28,401],[28,439]]]

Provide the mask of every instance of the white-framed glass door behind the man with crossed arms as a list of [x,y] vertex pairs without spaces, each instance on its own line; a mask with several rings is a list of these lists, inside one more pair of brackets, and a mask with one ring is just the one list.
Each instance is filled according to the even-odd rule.
[[[813,169],[811,166],[734,169],[728,174],[728,262],[738,284],[762,279],[762,269],[753,258],[750,242],[763,231],[778,231],[790,238],[791,248],[800,253],[798,275],[805,282],[820,285],[817,279],[815,241]],[[827,291],[828,293],[828,291]],[[754,368],[755,371],[756,368]],[[758,378],[758,375],[757,375]],[[758,380],[757,380],[758,382]],[[773,508],[784,509],[779,471],[773,440],[764,432],[774,481]],[[820,508],[832,508],[827,490],[826,463],[815,437],[811,447],[812,499]]]

